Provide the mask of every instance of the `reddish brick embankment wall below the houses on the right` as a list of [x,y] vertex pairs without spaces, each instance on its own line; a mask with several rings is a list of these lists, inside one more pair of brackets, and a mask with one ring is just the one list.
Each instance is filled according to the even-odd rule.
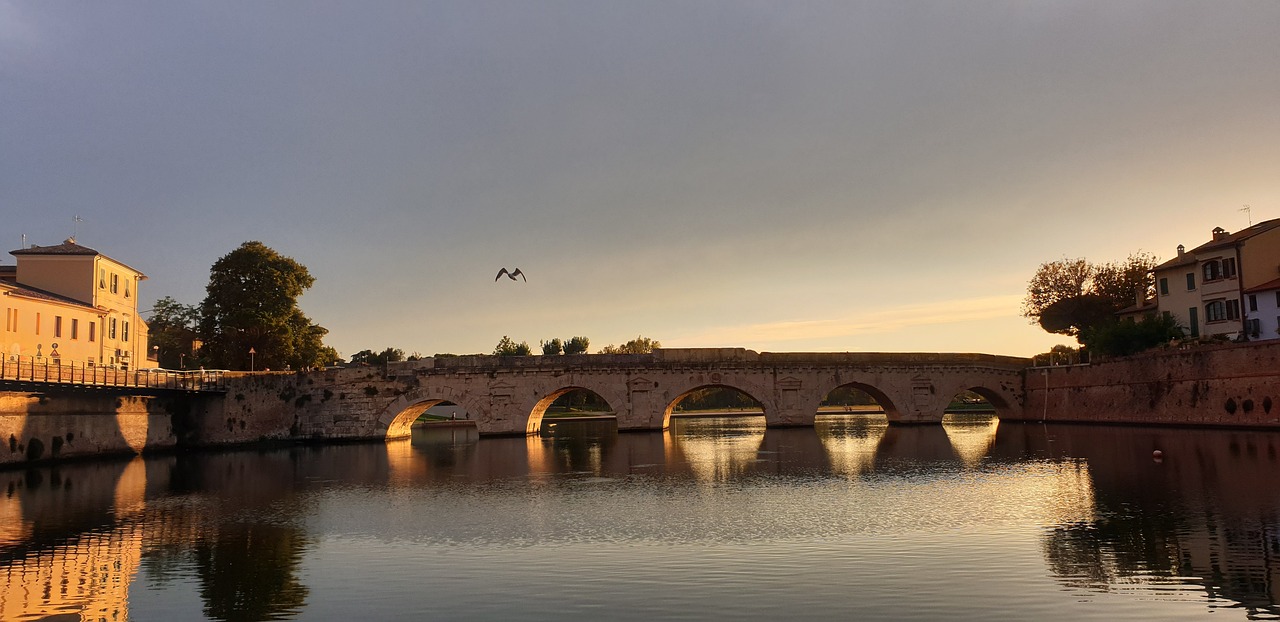
[[1028,370],[1025,394],[1030,421],[1280,427],[1280,342]]

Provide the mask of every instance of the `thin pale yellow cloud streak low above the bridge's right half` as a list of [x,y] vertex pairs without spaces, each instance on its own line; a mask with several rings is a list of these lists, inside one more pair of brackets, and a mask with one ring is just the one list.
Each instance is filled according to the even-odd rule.
[[892,333],[915,326],[1009,317],[1016,312],[1020,302],[1021,296],[1019,294],[988,296],[904,305],[826,320],[790,320],[716,326],[701,333],[671,339],[671,346],[696,347],[724,343],[764,346]]

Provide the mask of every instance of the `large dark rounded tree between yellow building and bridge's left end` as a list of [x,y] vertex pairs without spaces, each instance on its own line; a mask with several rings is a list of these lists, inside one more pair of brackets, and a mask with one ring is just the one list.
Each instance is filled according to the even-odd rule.
[[[209,271],[200,306],[204,355],[214,367],[323,366],[328,330],[298,308],[315,283],[306,266],[261,242],[244,242]],[[251,357],[250,349],[253,349]]]

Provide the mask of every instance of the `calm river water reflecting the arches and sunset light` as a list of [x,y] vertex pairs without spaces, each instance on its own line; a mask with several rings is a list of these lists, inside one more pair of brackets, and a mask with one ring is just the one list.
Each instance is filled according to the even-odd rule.
[[1277,448],[724,417],[4,471],[0,619],[1274,619]]

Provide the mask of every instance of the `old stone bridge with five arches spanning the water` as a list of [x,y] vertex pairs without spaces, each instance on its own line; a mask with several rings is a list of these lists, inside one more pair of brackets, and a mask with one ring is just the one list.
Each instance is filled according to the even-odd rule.
[[[663,430],[684,397],[709,387],[755,398],[773,427],[813,425],[819,403],[840,387],[874,397],[891,424],[938,424],[952,398],[965,390],[989,401],[997,416],[1021,419],[1023,375],[1029,365],[1027,358],[974,353],[685,348],[649,355],[424,358],[385,369],[279,375],[274,383],[229,376],[228,390],[237,394],[246,415],[270,419],[274,402],[275,417],[291,420],[288,435],[315,439],[408,436],[415,420],[445,402],[465,408],[483,435],[536,434],[547,407],[576,389],[608,402],[620,430]],[[251,383],[259,399],[238,393],[241,383]]]

